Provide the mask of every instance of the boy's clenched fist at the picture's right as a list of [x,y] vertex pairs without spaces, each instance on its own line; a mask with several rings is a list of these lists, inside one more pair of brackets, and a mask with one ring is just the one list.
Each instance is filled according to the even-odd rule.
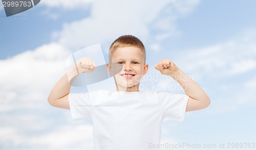
[[155,69],[159,70],[164,75],[172,76],[178,67],[169,59],[164,59],[155,65]]

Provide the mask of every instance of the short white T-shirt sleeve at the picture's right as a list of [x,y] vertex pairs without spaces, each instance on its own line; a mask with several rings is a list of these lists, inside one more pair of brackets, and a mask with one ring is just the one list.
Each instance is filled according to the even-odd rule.
[[163,108],[163,119],[167,117],[180,122],[184,120],[188,101],[187,95],[158,92],[158,97]]

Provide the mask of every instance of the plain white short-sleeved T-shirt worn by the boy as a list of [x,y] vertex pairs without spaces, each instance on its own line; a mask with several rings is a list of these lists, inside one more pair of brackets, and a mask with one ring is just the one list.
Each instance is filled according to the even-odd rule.
[[187,100],[157,91],[69,94],[72,118],[92,119],[96,150],[153,149],[149,144],[160,144],[162,120],[183,121]]

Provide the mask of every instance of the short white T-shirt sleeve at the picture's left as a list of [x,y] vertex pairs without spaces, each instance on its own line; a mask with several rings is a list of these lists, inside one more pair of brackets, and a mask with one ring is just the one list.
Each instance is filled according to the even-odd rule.
[[72,119],[91,118],[93,93],[70,93],[69,105]]

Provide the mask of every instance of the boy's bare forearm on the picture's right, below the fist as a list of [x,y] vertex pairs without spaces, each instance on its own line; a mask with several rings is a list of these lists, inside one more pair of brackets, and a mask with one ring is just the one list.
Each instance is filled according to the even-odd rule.
[[209,101],[209,97],[204,90],[191,78],[189,78],[181,69],[177,69],[170,75],[184,89],[186,95],[197,101]]

